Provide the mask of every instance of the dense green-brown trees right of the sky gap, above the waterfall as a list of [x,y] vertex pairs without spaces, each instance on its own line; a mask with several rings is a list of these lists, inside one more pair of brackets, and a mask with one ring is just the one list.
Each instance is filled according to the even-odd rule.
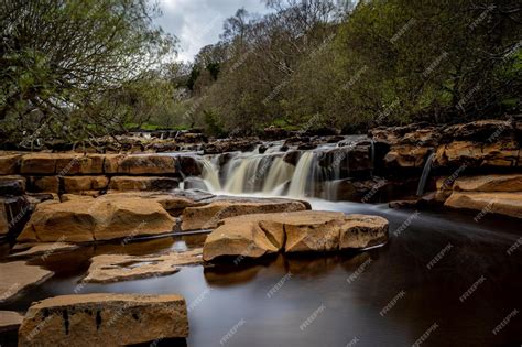
[[196,56],[191,126],[346,132],[520,111],[520,1],[268,1]]

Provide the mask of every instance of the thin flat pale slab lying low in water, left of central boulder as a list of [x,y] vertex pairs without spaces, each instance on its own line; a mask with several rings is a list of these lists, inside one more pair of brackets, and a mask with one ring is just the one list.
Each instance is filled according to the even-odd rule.
[[167,275],[180,271],[178,265],[203,262],[203,249],[170,252],[159,256],[104,254],[93,257],[87,276],[89,283],[110,283],[151,276]]

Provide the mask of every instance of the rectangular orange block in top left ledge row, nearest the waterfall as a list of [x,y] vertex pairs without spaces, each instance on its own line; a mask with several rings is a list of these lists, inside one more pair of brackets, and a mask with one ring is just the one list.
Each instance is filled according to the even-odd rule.
[[107,155],[105,172],[131,175],[174,175],[178,166],[176,158],[157,154]]

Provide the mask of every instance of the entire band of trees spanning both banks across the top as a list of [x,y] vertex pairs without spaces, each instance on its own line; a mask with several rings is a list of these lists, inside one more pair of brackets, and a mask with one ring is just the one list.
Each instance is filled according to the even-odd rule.
[[167,59],[175,39],[146,0],[3,2],[2,137],[352,132],[520,112],[520,1],[264,2],[269,14],[239,9],[189,64]]

